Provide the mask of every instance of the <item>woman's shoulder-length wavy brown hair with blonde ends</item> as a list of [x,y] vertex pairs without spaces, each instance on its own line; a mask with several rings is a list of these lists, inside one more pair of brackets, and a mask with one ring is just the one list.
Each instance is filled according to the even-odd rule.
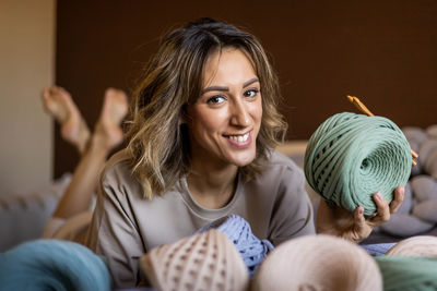
[[253,161],[240,168],[248,179],[262,171],[269,153],[284,138],[287,125],[276,110],[277,76],[261,44],[235,26],[200,19],[169,33],[150,60],[133,92],[127,132],[132,173],[144,196],[163,195],[190,170],[189,136],[180,124],[186,106],[201,95],[208,58],[224,48],[241,49],[250,58],[262,92],[262,120]]

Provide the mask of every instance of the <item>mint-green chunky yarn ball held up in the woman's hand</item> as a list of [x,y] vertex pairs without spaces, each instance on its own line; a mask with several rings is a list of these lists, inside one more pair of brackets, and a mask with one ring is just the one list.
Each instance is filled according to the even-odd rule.
[[390,203],[394,189],[408,182],[411,165],[409,142],[392,121],[343,112],[312,134],[304,168],[309,185],[329,205],[350,211],[363,206],[373,215],[373,194],[379,191]]

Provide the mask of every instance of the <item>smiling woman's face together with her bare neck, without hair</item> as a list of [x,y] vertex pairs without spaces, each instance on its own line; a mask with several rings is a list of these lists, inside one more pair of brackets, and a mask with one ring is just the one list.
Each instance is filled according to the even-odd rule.
[[[235,191],[235,179],[229,178],[257,155],[262,118],[260,84],[246,53],[225,48],[206,61],[203,87],[196,102],[188,105],[185,118],[193,173],[188,177],[188,186],[200,205],[221,208]],[[209,184],[216,186],[204,191]]]

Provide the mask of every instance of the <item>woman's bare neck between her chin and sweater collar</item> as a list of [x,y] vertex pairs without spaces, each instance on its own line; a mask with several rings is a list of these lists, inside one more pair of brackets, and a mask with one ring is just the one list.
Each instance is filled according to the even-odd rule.
[[237,184],[237,166],[212,167],[205,162],[193,162],[191,166],[187,183],[198,204],[204,208],[218,209],[231,202]]

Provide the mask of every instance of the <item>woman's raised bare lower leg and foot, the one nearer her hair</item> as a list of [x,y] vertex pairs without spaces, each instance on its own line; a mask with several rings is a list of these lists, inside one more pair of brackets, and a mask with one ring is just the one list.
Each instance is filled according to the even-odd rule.
[[99,171],[110,150],[122,142],[120,122],[127,111],[126,94],[118,89],[107,89],[94,134],[90,137],[90,143],[55,210],[54,217],[68,219],[90,209]]

